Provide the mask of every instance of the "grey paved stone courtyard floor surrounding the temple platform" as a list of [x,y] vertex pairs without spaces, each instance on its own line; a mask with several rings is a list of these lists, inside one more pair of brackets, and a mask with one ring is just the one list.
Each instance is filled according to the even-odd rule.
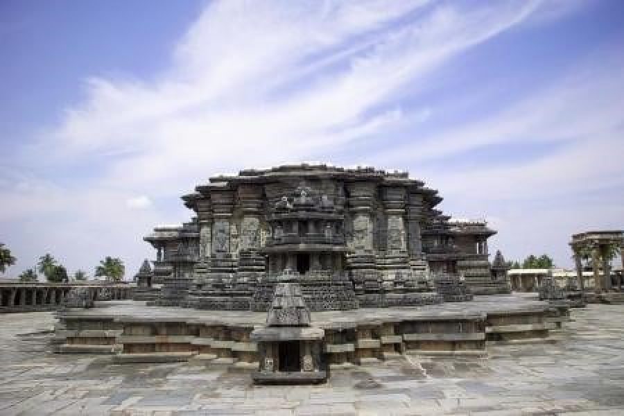
[[624,415],[623,317],[624,306],[589,305],[551,344],[254,387],[243,369],[50,354],[51,313],[0,315],[0,415]]

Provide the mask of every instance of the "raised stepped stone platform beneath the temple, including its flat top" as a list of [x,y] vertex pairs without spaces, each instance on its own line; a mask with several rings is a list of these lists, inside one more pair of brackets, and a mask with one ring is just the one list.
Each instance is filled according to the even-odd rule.
[[[137,362],[168,361],[172,353],[184,353],[175,354],[176,360],[202,356],[215,363],[259,359],[250,335],[265,326],[266,313],[162,308],[135,301],[100,306],[58,313],[55,352],[86,352],[87,345],[105,345],[109,354],[121,354],[120,362],[132,362],[132,356]],[[470,303],[311,313],[311,325],[324,330],[323,350],[330,365],[406,353],[485,355],[486,343],[541,342],[567,320],[565,304],[517,295],[476,296]]]

